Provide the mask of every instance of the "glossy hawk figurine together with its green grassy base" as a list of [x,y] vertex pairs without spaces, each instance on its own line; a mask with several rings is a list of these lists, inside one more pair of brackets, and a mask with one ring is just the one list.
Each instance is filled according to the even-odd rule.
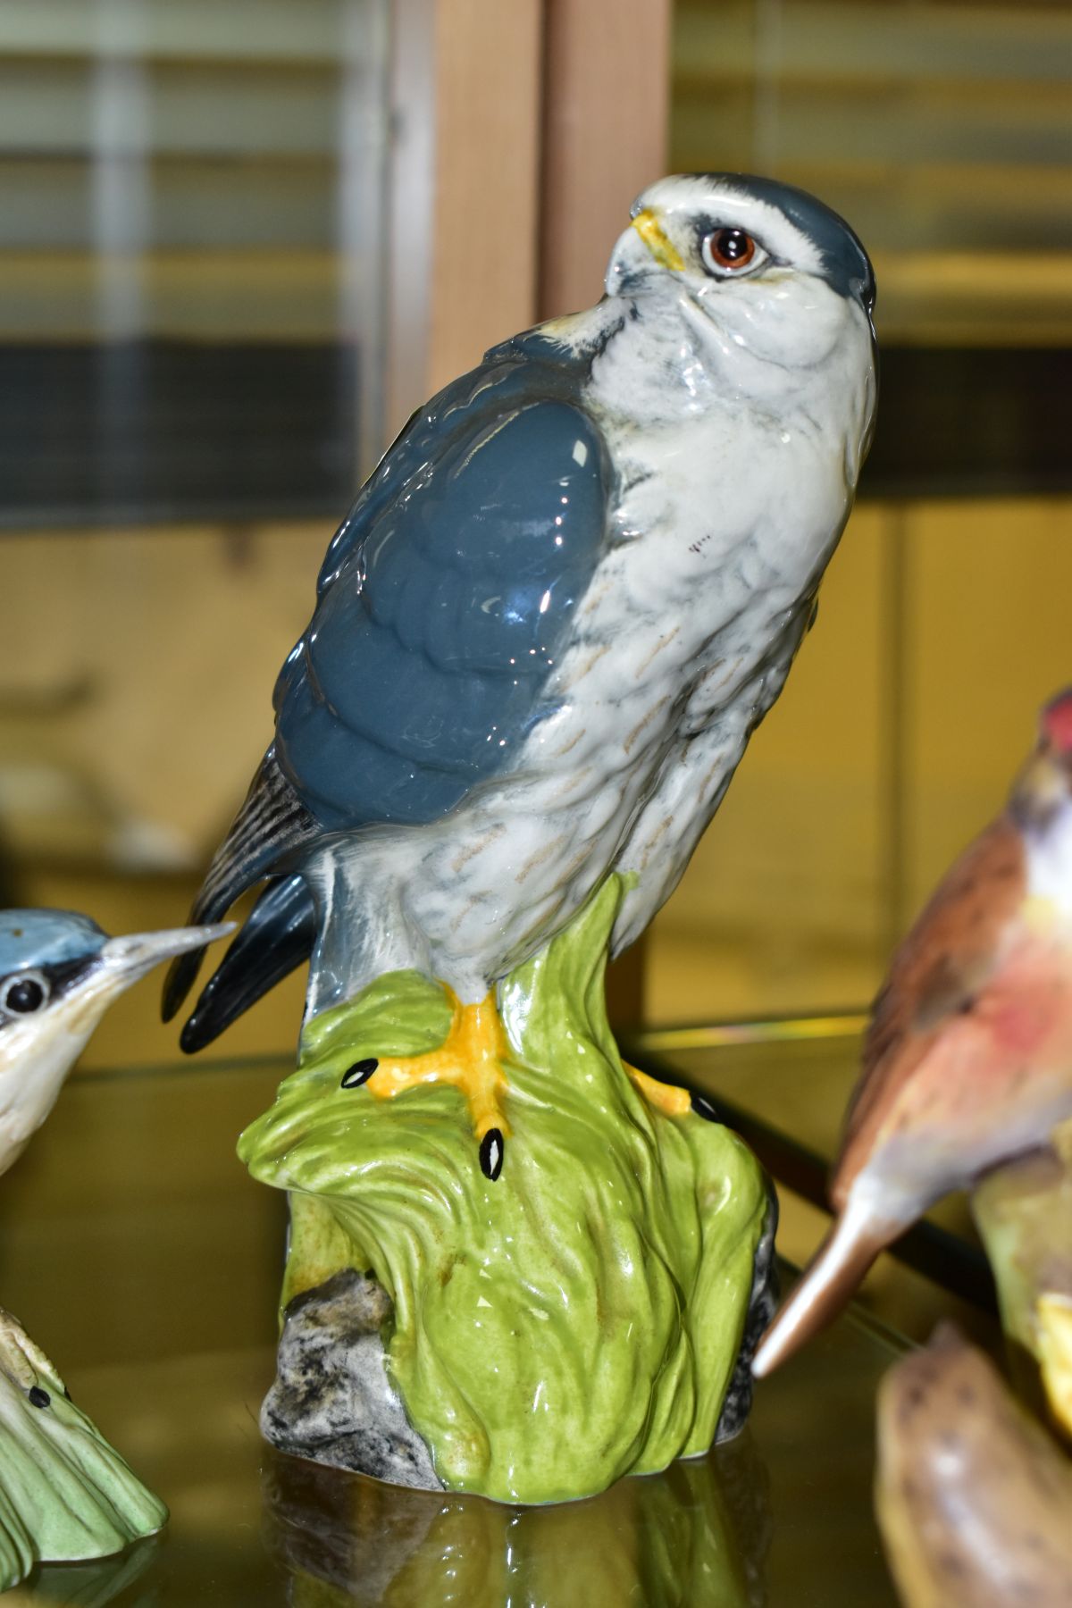
[[312,947],[302,1061],[243,1156],[320,1208],[289,1293],[365,1264],[387,1291],[387,1372],[448,1489],[585,1497],[747,1410],[762,1177],[630,1087],[603,970],[812,619],[871,433],[873,299],[799,191],[644,191],[603,301],[490,352],[358,497],[194,905],[286,873],[212,986],[222,1026]]

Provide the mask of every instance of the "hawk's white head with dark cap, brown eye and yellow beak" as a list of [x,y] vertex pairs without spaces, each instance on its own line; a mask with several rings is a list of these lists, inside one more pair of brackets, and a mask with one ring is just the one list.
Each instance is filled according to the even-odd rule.
[[849,323],[868,336],[874,273],[849,225],[815,196],[749,174],[680,174],[643,191],[606,289],[678,288],[707,343],[808,367]]

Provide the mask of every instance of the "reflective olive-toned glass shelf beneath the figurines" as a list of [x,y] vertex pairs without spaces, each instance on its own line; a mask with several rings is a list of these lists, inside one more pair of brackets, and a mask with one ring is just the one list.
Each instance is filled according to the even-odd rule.
[[273,1454],[257,1410],[284,1203],[233,1147],[286,1069],[275,1058],[79,1074],[5,1177],[3,1304],[172,1510],[159,1540],[42,1569],[11,1602],[895,1602],[871,1479],[876,1386],[898,1341],[858,1315],[757,1391],[738,1441],[585,1503],[429,1497]]

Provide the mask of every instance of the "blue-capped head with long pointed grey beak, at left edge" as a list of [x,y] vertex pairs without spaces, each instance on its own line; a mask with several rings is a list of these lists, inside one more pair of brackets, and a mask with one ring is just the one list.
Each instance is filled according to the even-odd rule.
[[108,937],[74,910],[0,912],[0,1172],[48,1116],[108,1005],[158,962],[231,928]]

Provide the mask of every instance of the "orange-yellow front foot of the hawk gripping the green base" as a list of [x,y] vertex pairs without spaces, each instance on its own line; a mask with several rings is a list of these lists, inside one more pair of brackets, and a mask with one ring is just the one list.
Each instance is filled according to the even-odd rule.
[[463,1005],[453,989],[447,989],[447,995],[453,1018],[439,1048],[426,1055],[381,1056],[368,1090],[379,1100],[394,1100],[416,1084],[452,1084],[469,1101],[477,1140],[492,1129],[506,1137],[509,1126],[501,1097],[508,1087],[503,1063],[509,1060],[509,1042],[498,1019],[495,991],[479,1005]]

